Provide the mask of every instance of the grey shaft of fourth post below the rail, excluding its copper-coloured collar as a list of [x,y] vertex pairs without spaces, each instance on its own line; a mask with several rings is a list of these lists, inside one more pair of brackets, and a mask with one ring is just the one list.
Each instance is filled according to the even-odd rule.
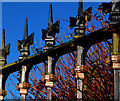
[[[83,47],[77,46],[77,66],[82,65],[82,52],[83,52]],[[82,79],[77,79],[77,101],[82,101],[82,86],[83,86],[83,81]]]

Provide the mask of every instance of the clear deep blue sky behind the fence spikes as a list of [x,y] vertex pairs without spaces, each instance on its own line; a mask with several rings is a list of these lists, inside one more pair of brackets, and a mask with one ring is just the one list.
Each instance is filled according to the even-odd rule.
[[[7,57],[7,63],[18,60],[20,52],[17,50],[17,40],[23,39],[25,17],[28,17],[28,33],[34,32],[34,42],[40,43],[42,29],[48,26],[48,13],[50,2],[3,2],[2,3],[2,28],[5,28],[6,45],[11,44],[10,54]],[[89,6],[93,7],[93,14],[99,2],[84,3],[84,10]],[[57,18],[69,20],[69,17],[75,17],[78,11],[77,2],[52,2],[53,21]],[[60,27],[69,26],[69,22],[60,21]],[[60,30],[60,34],[63,32]],[[44,41],[42,42],[44,46]],[[36,45],[37,46],[37,45]],[[7,83],[10,83],[8,80]],[[7,98],[12,96],[8,93]]]

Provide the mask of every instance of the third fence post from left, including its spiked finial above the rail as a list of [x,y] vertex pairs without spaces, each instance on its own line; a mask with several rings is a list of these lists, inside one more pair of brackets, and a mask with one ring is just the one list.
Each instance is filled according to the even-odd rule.
[[[55,45],[55,34],[59,33],[59,20],[53,24],[52,17],[52,4],[50,4],[49,9],[49,20],[48,20],[48,28],[46,30],[42,29],[42,39],[45,40],[44,50],[47,51],[51,49]],[[45,75],[45,86],[47,87],[47,101],[52,101],[52,87],[54,83],[54,70],[53,70],[53,57],[51,54],[48,56],[48,65],[46,66],[46,75]]]

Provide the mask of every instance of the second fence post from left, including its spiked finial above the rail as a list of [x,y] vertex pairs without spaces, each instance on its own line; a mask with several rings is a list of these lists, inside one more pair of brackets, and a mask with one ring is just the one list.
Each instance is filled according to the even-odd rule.
[[[26,18],[23,40],[22,41],[18,40],[18,50],[21,53],[19,60],[22,60],[25,57],[29,56],[30,54],[29,47],[31,44],[33,44],[33,37],[34,37],[34,33],[28,36],[28,20]],[[27,65],[24,64],[22,65],[20,83],[16,86],[17,89],[20,91],[22,100],[26,100],[27,90],[30,88],[30,84],[27,82],[28,77],[26,77],[27,68],[28,68]]]

